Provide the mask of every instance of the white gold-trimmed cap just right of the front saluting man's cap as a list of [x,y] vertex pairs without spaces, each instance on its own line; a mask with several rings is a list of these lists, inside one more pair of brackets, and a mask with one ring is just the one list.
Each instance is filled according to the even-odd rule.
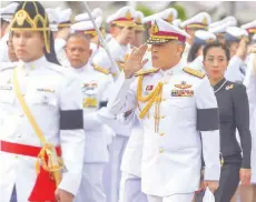
[[180,23],[180,27],[186,28],[195,28],[195,29],[207,29],[211,19],[207,12],[200,12],[193,18],[185,20]]

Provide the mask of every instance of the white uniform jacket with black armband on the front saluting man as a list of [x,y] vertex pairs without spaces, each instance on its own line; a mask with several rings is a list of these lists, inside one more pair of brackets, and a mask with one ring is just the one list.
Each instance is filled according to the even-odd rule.
[[[144,151],[141,164],[142,191],[149,195],[167,196],[175,193],[191,193],[198,189],[201,169],[201,147],[206,162],[205,179],[219,180],[218,110],[214,90],[205,77],[199,79],[176,67],[145,75],[142,94],[163,82],[163,101],[159,107],[159,131],[155,132],[155,104],[141,120]],[[179,84],[186,87],[188,97],[179,97]],[[148,88],[148,87],[154,88]],[[109,100],[112,113],[139,108],[137,81],[125,79],[121,73],[115,83],[115,94]],[[137,105],[139,104],[139,108]],[[200,140],[200,133],[201,140]]]

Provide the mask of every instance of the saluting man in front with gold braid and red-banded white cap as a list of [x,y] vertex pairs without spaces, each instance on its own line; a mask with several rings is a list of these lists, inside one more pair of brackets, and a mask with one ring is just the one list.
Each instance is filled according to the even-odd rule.
[[218,186],[217,101],[207,77],[181,61],[187,37],[157,19],[148,40],[154,68],[138,72],[147,62],[141,61],[147,46],[134,49],[109,100],[112,113],[136,109],[141,119],[141,188],[149,202],[193,200],[199,186],[201,148],[205,183],[213,192]]

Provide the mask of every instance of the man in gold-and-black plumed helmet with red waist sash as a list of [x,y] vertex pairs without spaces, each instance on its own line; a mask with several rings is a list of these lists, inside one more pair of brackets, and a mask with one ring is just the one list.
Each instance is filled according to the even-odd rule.
[[11,34],[20,61],[0,71],[0,201],[72,202],[85,154],[79,82],[56,64],[39,2],[20,2]]

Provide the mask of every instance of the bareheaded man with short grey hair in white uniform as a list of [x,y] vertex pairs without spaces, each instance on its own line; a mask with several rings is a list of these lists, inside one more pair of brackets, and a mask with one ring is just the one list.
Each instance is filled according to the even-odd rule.
[[109,161],[108,130],[97,117],[100,108],[107,105],[108,85],[111,78],[95,70],[89,63],[90,43],[83,33],[72,33],[67,40],[67,58],[71,70],[80,81],[82,91],[83,122],[86,133],[82,181],[76,202],[106,202],[102,173]]

